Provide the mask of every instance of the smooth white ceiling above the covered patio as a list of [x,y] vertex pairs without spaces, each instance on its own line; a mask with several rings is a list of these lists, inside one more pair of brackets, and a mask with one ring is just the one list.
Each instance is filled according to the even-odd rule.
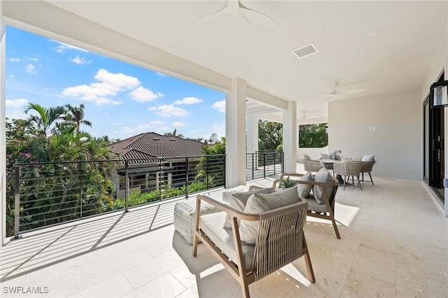
[[[280,24],[265,30],[223,16],[226,1],[47,1],[139,41],[325,117],[330,100],[420,88],[447,30],[447,1],[251,1]],[[89,32],[85,32],[89,34]],[[318,53],[293,50],[313,43]],[[300,116],[300,115],[299,115]]]

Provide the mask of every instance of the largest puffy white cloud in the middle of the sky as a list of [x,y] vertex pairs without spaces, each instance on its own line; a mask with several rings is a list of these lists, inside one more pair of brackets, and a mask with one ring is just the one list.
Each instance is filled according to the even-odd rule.
[[94,101],[97,105],[122,104],[121,101],[107,97],[115,97],[118,92],[126,89],[134,89],[134,87],[140,84],[137,78],[126,76],[123,73],[109,73],[106,69],[100,69],[94,78],[100,82],[90,83],[90,85],[66,87],[62,90],[62,96],[76,97],[84,101]]

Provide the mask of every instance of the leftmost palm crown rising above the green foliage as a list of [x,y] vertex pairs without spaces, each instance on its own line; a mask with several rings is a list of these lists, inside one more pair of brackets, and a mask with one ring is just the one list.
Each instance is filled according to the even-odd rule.
[[38,129],[40,134],[47,136],[48,130],[51,125],[55,123],[58,119],[60,119],[61,115],[64,115],[65,109],[63,106],[57,106],[55,108],[44,108],[39,104],[29,103],[25,108],[25,113],[28,113],[30,110],[34,110],[38,113],[38,115],[29,115],[28,122],[34,122],[36,124],[36,128]]

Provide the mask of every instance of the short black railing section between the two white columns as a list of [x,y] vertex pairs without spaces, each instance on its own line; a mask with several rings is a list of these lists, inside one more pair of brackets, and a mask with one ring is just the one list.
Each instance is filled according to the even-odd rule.
[[257,151],[246,157],[246,180],[283,173],[282,151]]

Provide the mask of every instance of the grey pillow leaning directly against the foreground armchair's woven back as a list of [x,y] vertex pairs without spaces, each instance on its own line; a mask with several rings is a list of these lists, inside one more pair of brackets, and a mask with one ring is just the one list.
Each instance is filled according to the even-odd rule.
[[[299,201],[299,196],[296,188],[297,187],[290,187],[279,192],[273,192],[272,194],[252,194],[247,200],[244,213],[259,214],[268,210],[297,203]],[[239,225],[239,238],[241,239],[241,243],[255,244],[257,235],[257,221],[241,220],[241,225]]]

